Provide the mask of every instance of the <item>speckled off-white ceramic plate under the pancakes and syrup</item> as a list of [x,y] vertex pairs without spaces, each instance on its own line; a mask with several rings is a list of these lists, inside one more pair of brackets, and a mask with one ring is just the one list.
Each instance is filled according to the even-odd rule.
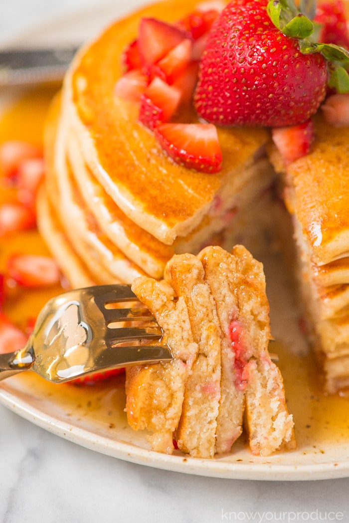
[[[141,0],[128,2],[127,9]],[[96,9],[69,15],[27,31],[12,42],[46,44],[76,42],[95,35],[119,14],[125,5],[104,2]],[[8,93],[2,92],[0,103]],[[272,269],[269,269],[273,267]],[[276,264],[280,268],[279,264]],[[268,293],[272,303],[272,326],[279,340],[280,368],[285,379],[288,404],[296,422],[298,449],[272,457],[253,457],[241,440],[229,456],[197,460],[175,453],[173,456],[150,450],[142,433],[134,433],[123,412],[125,397],[122,379],[112,385],[75,388],[51,385],[31,373],[0,383],[0,402],[52,433],[78,445],[109,456],[160,469],[213,477],[251,480],[316,480],[349,476],[349,429],[345,413],[347,398],[326,398],[312,385],[311,359],[295,356],[302,340],[295,333],[295,311],[289,306],[287,281],[274,263],[266,263]],[[275,287],[275,288],[274,288]],[[284,292],[279,292],[279,289]],[[285,307],[284,304],[287,304]],[[282,311],[281,315],[277,311]],[[293,325],[290,327],[290,325]],[[283,346],[291,349],[286,354]],[[290,372],[292,369],[292,372]],[[344,413],[344,414],[343,414]]]

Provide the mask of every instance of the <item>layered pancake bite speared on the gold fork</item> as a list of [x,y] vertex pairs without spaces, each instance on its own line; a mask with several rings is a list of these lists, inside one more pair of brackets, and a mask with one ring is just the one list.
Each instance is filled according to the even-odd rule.
[[268,354],[269,305],[262,264],[242,246],[175,255],[164,280],[132,289],[164,330],[170,363],[127,371],[130,426],[148,429],[152,448],[190,456],[229,452],[242,432],[252,453],[294,448],[279,370]]

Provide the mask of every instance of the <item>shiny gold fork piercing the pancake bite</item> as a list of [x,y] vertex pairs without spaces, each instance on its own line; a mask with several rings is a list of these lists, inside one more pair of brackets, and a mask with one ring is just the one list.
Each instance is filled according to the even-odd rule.
[[[133,306],[116,308],[127,302]],[[31,370],[63,383],[96,371],[169,361],[169,347],[144,344],[162,336],[130,286],[71,290],[44,305],[24,348],[0,355],[0,380]]]

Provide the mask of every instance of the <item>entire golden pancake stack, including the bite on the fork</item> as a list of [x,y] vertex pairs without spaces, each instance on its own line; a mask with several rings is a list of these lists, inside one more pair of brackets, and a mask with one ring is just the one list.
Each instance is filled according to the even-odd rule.
[[[274,170],[266,156],[269,134],[251,128],[218,129],[223,156],[218,174],[172,162],[138,121],[138,105],[116,96],[115,84],[123,73],[122,52],[136,38],[141,18],[173,22],[195,4],[166,0],[144,8],[78,52],[48,119],[39,229],[73,287],[137,278],[135,292],[159,323],[165,322],[176,359],[133,369],[127,379],[130,425],[148,428],[154,449],[171,452],[175,431],[179,448],[192,456],[226,452],[241,432],[245,412],[252,451],[267,454],[292,445],[292,422],[282,379],[267,354],[261,268],[253,276],[255,261],[239,247],[229,258],[234,268],[223,277],[219,267],[210,272],[212,260],[223,256],[215,251],[219,247],[205,247],[230,251],[244,244],[258,255],[265,231],[276,229],[271,187],[275,171],[282,172],[294,219],[302,301],[326,388],[334,392],[348,386],[349,130],[336,130],[319,118],[311,154],[287,168],[273,150]],[[187,109],[178,120],[196,122],[197,117]],[[250,280],[239,260],[248,261]],[[221,268],[224,263],[221,259]],[[193,274],[195,281],[186,277]],[[239,278],[245,277],[248,292],[239,298],[229,281],[238,289]],[[193,287],[202,291],[196,307],[190,301]],[[249,307],[254,306],[252,314]],[[241,318],[248,333],[251,360],[249,385],[241,393],[231,375],[234,350],[227,338],[234,317]]]

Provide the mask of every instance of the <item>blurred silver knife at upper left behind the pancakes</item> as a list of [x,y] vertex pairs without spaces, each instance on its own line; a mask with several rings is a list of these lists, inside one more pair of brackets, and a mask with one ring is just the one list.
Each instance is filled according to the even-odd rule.
[[0,87],[60,81],[77,49],[70,46],[0,50]]

